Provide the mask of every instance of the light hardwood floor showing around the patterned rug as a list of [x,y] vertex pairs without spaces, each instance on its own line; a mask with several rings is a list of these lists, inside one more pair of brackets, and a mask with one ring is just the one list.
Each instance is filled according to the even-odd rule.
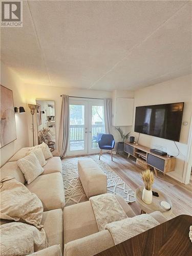
[[[88,156],[89,157],[89,156]],[[101,160],[108,163],[111,168],[129,185],[134,191],[137,187],[143,186],[141,180],[142,168],[136,165],[133,157],[129,159],[126,156],[113,155],[113,162],[110,154],[103,154]],[[192,216],[192,186],[184,185],[167,175],[163,176],[158,172],[155,178],[154,188],[166,193],[173,203],[173,214],[178,216],[181,214]],[[139,215],[141,209],[134,202],[129,204],[136,215]]]

